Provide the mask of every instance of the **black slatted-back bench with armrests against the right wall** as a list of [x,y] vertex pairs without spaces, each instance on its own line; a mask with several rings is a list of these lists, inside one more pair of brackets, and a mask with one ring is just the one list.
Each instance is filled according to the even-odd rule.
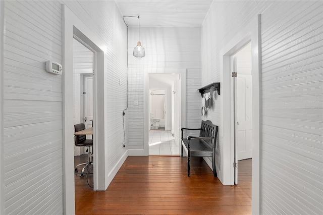
[[[183,148],[187,154],[187,175],[190,176],[190,159],[191,157],[212,157],[213,175],[217,177],[216,170],[216,143],[219,127],[213,125],[211,121],[203,121],[201,128],[189,129],[182,128],[182,144],[181,156],[183,156]],[[184,130],[200,130],[199,137],[188,136],[183,138]]]

